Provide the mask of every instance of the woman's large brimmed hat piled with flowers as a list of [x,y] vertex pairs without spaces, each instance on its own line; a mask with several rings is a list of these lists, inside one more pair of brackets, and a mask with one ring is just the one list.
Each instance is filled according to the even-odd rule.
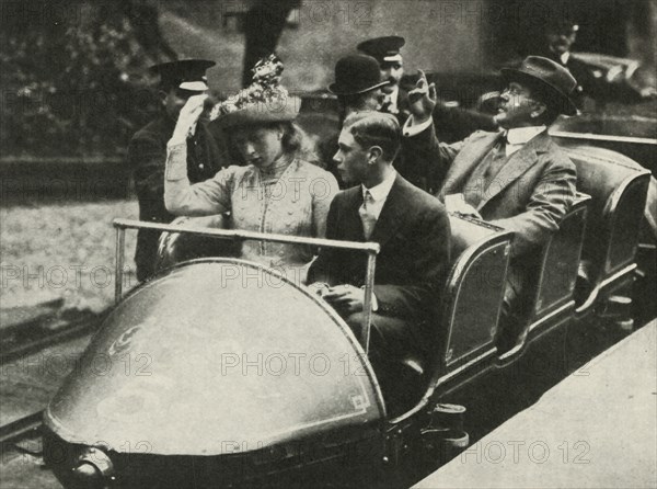
[[276,55],[257,61],[252,70],[253,83],[215,105],[210,121],[222,128],[293,121],[300,104],[279,84],[283,70]]

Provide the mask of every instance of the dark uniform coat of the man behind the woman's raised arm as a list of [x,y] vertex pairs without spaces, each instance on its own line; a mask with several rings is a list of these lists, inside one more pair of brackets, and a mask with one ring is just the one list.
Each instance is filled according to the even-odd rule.
[[[164,207],[164,169],[166,143],[175,121],[162,115],[135,134],[128,147],[128,160],[134,171],[139,200],[139,219],[149,223],[171,223],[175,216]],[[228,166],[227,153],[217,145],[207,127],[199,123],[187,141],[187,175],[192,183],[211,179]],[[153,272],[160,232],[140,229],[137,234],[135,262],[137,278],[148,278]]]

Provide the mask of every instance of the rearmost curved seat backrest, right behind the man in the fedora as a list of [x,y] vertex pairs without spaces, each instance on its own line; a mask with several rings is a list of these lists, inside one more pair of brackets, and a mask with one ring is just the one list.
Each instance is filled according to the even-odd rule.
[[583,260],[597,286],[634,262],[650,173],[603,148],[563,148],[577,167],[577,187],[591,196]]

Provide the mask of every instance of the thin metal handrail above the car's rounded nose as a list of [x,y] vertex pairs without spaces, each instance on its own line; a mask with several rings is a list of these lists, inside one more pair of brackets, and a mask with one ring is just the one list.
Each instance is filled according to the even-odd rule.
[[207,236],[218,239],[231,239],[234,241],[257,240],[279,242],[286,244],[309,244],[321,248],[335,248],[342,250],[360,251],[367,253],[367,269],[365,276],[365,299],[362,306],[362,329],[360,331],[360,343],[365,353],[369,353],[370,327],[372,319],[372,294],[374,286],[374,271],[377,266],[377,254],[381,247],[376,242],[338,241],[335,239],[304,238],[300,236],[274,235],[265,232],[245,231],[240,229],[214,229],[199,228],[170,224],[154,224],[142,220],[117,218],[113,221],[116,228],[116,263],[115,263],[115,288],[114,300],[118,303],[123,295],[123,273],[125,265],[125,231],[126,229],[150,229],[153,231],[182,232],[188,235]]

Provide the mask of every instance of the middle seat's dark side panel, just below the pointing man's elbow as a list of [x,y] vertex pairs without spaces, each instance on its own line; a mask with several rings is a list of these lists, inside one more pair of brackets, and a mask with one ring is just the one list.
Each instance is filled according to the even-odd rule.
[[539,325],[561,309],[574,306],[577,269],[587,227],[589,195],[578,193],[570,211],[543,246],[537,263],[534,291],[529,316],[529,331],[539,331]]

